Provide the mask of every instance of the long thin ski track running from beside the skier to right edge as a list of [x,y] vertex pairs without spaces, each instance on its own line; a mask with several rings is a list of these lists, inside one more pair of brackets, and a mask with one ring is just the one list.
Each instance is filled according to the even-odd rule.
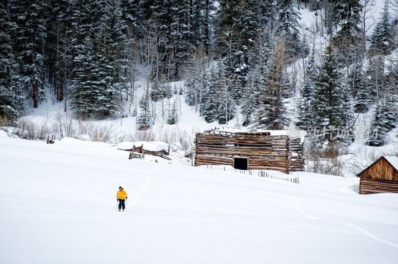
[[[137,176],[147,177],[147,176],[143,176],[143,175],[137,175]],[[265,191],[247,189],[247,188],[241,188],[241,187],[236,187],[236,186],[229,186],[229,185],[222,185],[222,184],[214,184],[214,183],[203,183],[203,182],[198,182],[198,181],[181,180],[181,179],[171,179],[171,178],[165,178],[165,177],[147,177],[147,179],[145,180],[145,185],[143,185],[143,186],[141,187],[140,192],[139,192],[138,194],[136,194],[136,195],[133,197],[133,204],[136,203],[138,197],[141,196],[141,195],[146,191],[147,187],[151,184],[149,180],[152,179],[152,178],[162,179],[162,180],[174,180],[174,181],[181,181],[181,182],[189,182],[189,183],[193,183],[193,182],[194,182],[194,183],[200,183],[200,184],[206,184],[206,185],[212,185],[212,186],[220,186],[220,187],[227,187],[227,188],[232,188],[232,189],[237,189],[237,190],[243,190],[243,191],[249,191],[249,192],[262,193],[262,194],[267,194],[267,195],[274,195],[274,196],[279,196],[279,197],[284,197],[284,198],[291,198],[291,199],[294,199],[294,200],[295,200],[295,207],[296,207],[296,210],[297,210],[300,214],[305,215],[306,217],[308,217],[309,219],[312,219],[312,220],[326,220],[326,221],[333,221],[333,222],[337,222],[337,223],[340,223],[340,224],[344,224],[344,225],[346,225],[346,226],[349,226],[349,227],[352,227],[352,228],[358,230],[359,232],[365,234],[365,235],[368,236],[368,237],[371,237],[371,238],[373,238],[373,239],[375,239],[375,240],[377,240],[377,241],[379,241],[379,242],[385,243],[385,244],[387,244],[387,245],[389,245],[389,246],[391,246],[391,247],[393,247],[393,248],[398,249],[398,245],[397,245],[397,244],[394,244],[394,243],[391,243],[391,242],[389,242],[389,241],[386,241],[386,240],[384,240],[384,239],[382,239],[382,238],[379,238],[379,237],[373,235],[372,233],[370,233],[369,231],[366,231],[365,229],[363,229],[363,228],[361,228],[361,227],[358,227],[358,226],[356,226],[356,225],[349,224],[349,223],[342,222],[342,221],[331,220],[331,219],[318,219],[318,218],[316,218],[316,217],[314,217],[314,216],[312,216],[312,215],[310,215],[310,214],[304,212],[304,211],[301,209],[301,205],[300,205],[300,203],[301,203],[301,198],[297,198],[297,197],[293,197],[293,196],[288,196],[288,195],[281,195],[281,194],[277,194],[277,193],[271,193],[271,192],[265,192]],[[132,206],[132,205],[130,205],[130,206]]]

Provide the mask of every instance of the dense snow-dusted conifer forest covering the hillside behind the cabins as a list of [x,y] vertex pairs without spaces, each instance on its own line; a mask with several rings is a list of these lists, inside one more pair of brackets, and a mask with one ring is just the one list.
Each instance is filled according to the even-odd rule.
[[[3,0],[0,116],[12,123],[27,101],[38,107],[47,86],[76,119],[138,115],[146,129],[155,103],[180,94],[206,122],[239,115],[236,125],[250,129],[323,128],[329,141],[345,144],[367,113],[367,144],[380,146],[398,121],[398,2],[385,0],[377,19],[374,5]],[[310,27],[299,23],[302,10],[313,15]],[[137,93],[139,69],[144,93]],[[162,113],[177,124],[178,102]]]

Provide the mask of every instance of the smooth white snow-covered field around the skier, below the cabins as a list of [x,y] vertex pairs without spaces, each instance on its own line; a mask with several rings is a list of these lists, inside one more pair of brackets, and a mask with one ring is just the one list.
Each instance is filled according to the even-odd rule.
[[0,131],[0,263],[397,263],[398,194],[359,195],[357,178],[268,171],[294,184],[190,165]]

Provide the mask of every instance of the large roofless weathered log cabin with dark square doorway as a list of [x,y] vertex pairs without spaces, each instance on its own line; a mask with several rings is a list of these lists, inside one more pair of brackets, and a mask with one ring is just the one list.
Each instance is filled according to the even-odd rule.
[[302,171],[303,143],[300,137],[270,132],[197,133],[195,166],[230,165],[240,170],[263,169],[284,173]]

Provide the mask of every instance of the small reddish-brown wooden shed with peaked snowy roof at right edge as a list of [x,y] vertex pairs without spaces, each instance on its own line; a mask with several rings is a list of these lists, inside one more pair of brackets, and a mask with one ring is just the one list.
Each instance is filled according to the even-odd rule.
[[360,194],[398,193],[398,157],[382,156],[357,177]]

